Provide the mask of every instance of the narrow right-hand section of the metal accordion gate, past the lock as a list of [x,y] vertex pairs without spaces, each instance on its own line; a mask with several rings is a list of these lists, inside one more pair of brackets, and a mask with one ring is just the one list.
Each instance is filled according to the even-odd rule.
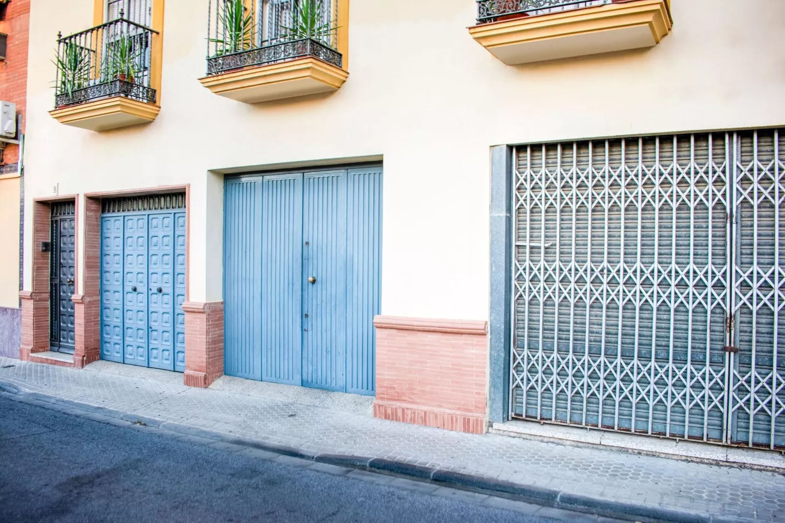
[[736,133],[729,442],[785,447],[785,136]]

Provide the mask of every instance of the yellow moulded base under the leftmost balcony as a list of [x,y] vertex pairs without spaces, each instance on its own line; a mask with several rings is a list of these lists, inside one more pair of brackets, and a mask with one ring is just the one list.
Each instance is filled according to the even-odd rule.
[[49,114],[64,125],[100,132],[152,122],[159,111],[160,108],[154,104],[112,97],[86,104],[69,105],[49,111]]

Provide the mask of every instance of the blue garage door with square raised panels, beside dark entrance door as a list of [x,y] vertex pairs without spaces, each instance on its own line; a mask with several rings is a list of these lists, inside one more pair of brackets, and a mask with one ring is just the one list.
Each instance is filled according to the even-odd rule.
[[101,218],[101,358],[185,370],[185,213]]

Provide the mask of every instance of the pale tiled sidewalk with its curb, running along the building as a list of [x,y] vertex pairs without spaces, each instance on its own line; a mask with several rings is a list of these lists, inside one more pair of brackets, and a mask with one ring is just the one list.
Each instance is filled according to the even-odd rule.
[[374,419],[371,398],[97,362],[79,371],[0,357],[6,393],[86,404],[151,426],[327,463],[492,490],[633,521],[783,521],[785,476]]

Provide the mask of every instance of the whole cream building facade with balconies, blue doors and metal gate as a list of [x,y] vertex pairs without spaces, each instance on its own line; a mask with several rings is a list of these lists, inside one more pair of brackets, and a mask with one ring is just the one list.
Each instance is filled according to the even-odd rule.
[[32,6],[22,359],[785,446],[782,2],[197,3]]

